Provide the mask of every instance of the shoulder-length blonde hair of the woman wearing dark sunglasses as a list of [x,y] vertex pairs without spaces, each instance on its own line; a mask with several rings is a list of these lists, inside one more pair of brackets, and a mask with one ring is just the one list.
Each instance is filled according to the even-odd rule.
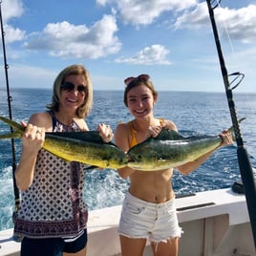
[[93,107],[93,85],[89,72],[85,69],[83,65],[75,64],[66,67],[62,70],[55,78],[53,82],[53,96],[52,103],[47,104],[46,107],[53,111],[58,111],[59,108],[59,96],[60,96],[60,86],[65,81],[66,77],[69,75],[84,75],[86,86],[88,88],[87,96],[84,102],[76,110],[76,117],[87,117],[92,111]]

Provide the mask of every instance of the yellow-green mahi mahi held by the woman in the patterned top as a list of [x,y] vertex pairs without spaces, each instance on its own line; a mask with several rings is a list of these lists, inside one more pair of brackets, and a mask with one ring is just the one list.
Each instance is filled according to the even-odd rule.
[[[0,139],[21,138],[25,128],[6,117],[0,119],[8,123],[13,131],[0,135]],[[97,131],[45,133],[43,148],[67,161],[79,161],[99,168],[118,169],[128,163],[127,156],[112,142],[105,143]]]

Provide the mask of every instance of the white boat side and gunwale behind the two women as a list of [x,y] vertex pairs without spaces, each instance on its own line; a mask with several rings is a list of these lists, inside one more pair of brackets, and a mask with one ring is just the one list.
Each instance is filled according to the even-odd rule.
[[[179,255],[256,255],[245,195],[231,189],[205,191],[178,198],[176,206],[184,231]],[[121,205],[90,211],[88,256],[120,255],[120,210]],[[0,246],[2,256],[19,255],[20,243],[13,241],[12,229],[0,232]],[[144,255],[153,255],[149,246]]]

